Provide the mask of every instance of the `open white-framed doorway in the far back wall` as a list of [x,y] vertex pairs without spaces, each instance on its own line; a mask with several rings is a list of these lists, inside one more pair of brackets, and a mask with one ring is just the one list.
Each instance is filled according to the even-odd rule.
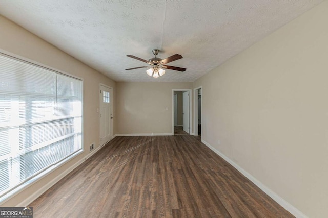
[[188,135],[191,130],[191,90],[174,89],[172,95],[172,135]]

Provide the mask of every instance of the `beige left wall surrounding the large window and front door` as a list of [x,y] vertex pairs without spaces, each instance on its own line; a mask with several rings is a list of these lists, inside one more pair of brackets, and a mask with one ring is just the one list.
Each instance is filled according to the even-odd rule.
[[[101,82],[113,87],[114,105],[116,86],[114,81],[56,49],[53,45],[36,37],[2,16],[0,16],[0,29],[1,50],[65,71],[71,75],[83,78],[84,80],[84,153],[1,205],[16,206],[19,202],[30,197],[35,191],[42,188],[61,172],[65,171],[65,169],[88,155],[90,153],[89,146],[91,143],[95,143],[96,147],[99,146],[99,114],[97,113],[97,107],[99,107],[99,83]],[[115,112],[114,108],[114,116]],[[113,133],[116,133],[115,128]]]

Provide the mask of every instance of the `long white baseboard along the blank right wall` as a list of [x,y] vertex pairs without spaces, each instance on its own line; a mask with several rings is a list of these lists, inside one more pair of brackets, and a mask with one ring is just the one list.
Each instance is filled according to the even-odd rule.
[[251,180],[257,187],[259,187],[262,191],[264,191],[268,196],[270,196],[274,201],[276,201],[280,206],[285,208],[287,211],[292,213],[295,217],[298,218],[307,218],[304,213],[299,211],[296,207],[285,201],[283,198],[278,196],[274,191],[272,191],[270,188],[265,186],[263,183],[258,181],[255,177],[253,177],[251,174],[249,174],[247,171],[245,171],[243,168],[241,168],[238,164],[233,162],[231,159],[229,159],[226,155],[222,154],[220,151],[212,147],[209,143],[207,143],[204,140],[201,140],[207,147],[209,147],[212,151],[214,151],[216,154],[218,154],[220,157],[222,157],[224,160],[226,160],[228,163],[230,163],[233,167],[237,169],[242,175],[247,177],[249,180]]

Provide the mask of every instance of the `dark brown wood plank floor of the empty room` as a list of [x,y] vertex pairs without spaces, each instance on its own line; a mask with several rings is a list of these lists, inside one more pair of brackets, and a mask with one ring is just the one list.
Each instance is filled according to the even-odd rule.
[[199,137],[116,137],[36,199],[37,217],[293,217]]

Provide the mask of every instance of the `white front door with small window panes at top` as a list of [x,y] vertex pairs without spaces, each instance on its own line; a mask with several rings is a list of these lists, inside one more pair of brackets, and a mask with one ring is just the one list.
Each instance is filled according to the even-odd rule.
[[100,146],[112,139],[112,89],[100,85]]

